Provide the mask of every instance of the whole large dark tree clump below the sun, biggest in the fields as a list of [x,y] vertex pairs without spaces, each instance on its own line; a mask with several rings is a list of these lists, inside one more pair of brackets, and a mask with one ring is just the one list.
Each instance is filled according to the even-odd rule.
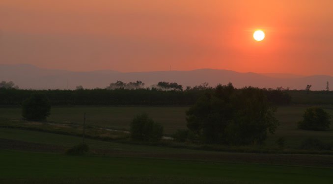
[[218,85],[187,111],[187,127],[206,143],[261,144],[278,120],[263,90]]

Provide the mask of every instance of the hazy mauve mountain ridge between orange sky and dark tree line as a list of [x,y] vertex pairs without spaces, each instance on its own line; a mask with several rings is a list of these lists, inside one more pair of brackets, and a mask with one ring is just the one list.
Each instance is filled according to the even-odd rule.
[[75,89],[104,88],[111,82],[141,80],[150,86],[159,81],[177,82],[186,86],[200,85],[208,82],[211,86],[218,83],[232,82],[237,88],[255,86],[260,88],[289,87],[305,89],[311,84],[311,90],[325,90],[326,82],[332,84],[333,77],[325,75],[297,76],[293,74],[256,74],[239,73],[230,70],[199,69],[192,71],[154,71],[154,72],[117,72],[111,70],[72,72],[66,70],[43,69],[29,64],[0,64],[0,81],[13,81],[21,89]]

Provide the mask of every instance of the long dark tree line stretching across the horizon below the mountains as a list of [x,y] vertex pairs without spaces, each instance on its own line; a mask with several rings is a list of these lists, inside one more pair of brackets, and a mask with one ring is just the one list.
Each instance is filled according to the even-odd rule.
[[[0,86],[0,105],[22,105],[32,92],[45,93],[52,105],[193,105],[204,93],[214,89],[208,82],[185,89],[176,82],[161,81],[145,87],[142,81],[123,82],[118,80],[104,89],[76,90],[25,90],[13,82],[2,82]],[[237,89],[236,89],[237,90]],[[274,105],[288,104],[333,104],[333,91],[289,90],[263,88],[268,101]]]

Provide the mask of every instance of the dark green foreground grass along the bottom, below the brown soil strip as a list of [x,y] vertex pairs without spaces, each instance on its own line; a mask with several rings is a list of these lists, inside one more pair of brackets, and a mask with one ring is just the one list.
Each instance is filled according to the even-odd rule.
[[[0,151],[1,183],[332,183],[333,169]],[[102,177],[102,178],[101,178]],[[105,179],[103,179],[105,177]],[[94,179],[95,178],[95,179]],[[101,181],[102,180],[102,181]],[[105,180],[105,181],[103,181]],[[80,182],[81,181],[81,182]],[[200,182],[202,181],[202,182]],[[71,182],[68,182],[71,183]],[[92,182],[95,183],[95,182]]]

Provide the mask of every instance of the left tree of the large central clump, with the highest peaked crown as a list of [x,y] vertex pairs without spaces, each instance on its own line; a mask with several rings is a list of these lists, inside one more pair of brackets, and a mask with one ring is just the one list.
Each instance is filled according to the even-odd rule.
[[215,93],[206,93],[187,111],[187,127],[204,142],[225,143],[225,129],[233,114],[230,101],[234,90],[231,83],[218,85]]

